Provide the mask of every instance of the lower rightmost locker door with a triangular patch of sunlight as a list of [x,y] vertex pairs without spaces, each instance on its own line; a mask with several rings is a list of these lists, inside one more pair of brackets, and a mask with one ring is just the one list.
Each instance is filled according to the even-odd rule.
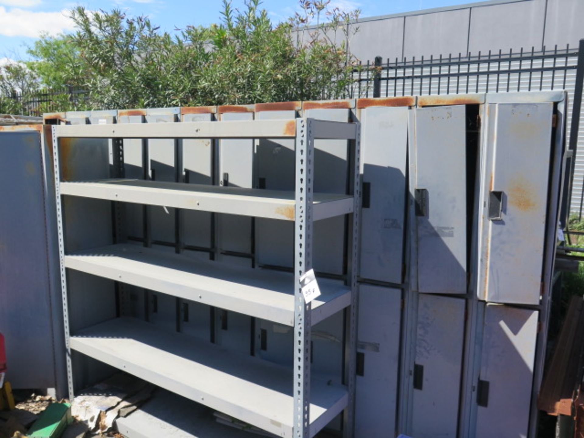
[[536,310],[486,305],[477,438],[527,436],[537,319]]

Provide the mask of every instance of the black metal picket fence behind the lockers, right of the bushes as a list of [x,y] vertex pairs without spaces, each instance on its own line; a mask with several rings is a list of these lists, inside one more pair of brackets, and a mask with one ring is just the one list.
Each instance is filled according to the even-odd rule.
[[[584,78],[584,40],[579,47],[536,51],[488,51],[447,57],[395,60],[377,57],[353,72],[350,98],[519,91],[568,91],[568,176],[564,214],[582,218],[584,205],[584,133],[580,133],[580,106]],[[579,153],[576,154],[579,148]]]

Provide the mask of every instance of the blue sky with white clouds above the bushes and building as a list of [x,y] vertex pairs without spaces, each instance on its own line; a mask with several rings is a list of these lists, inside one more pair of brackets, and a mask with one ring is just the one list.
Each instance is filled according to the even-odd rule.
[[[471,0],[332,0],[343,9],[361,9],[361,17],[407,12],[468,3]],[[221,0],[0,0],[0,63],[26,59],[26,47],[34,43],[42,31],[57,34],[71,32],[67,10],[75,5],[88,9],[120,8],[129,15],[147,15],[162,30],[173,32],[187,25],[210,25],[220,19]],[[244,0],[232,0],[241,7]],[[293,15],[298,0],[263,0],[275,22]]]

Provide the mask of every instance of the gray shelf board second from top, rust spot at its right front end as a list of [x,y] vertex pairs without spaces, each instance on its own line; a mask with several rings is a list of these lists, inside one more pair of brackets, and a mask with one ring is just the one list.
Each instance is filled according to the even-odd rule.
[[[61,182],[61,194],[293,221],[293,191],[244,189],[142,179]],[[314,220],[353,212],[353,196],[315,193]]]

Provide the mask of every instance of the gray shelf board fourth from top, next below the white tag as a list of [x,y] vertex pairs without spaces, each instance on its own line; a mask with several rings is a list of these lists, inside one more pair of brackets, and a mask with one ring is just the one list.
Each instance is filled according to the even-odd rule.
[[[79,331],[71,348],[282,437],[292,436],[293,369],[135,318]],[[293,346],[290,346],[291,348]],[[346,387],[311,378],[310,436],[347,406]]]

